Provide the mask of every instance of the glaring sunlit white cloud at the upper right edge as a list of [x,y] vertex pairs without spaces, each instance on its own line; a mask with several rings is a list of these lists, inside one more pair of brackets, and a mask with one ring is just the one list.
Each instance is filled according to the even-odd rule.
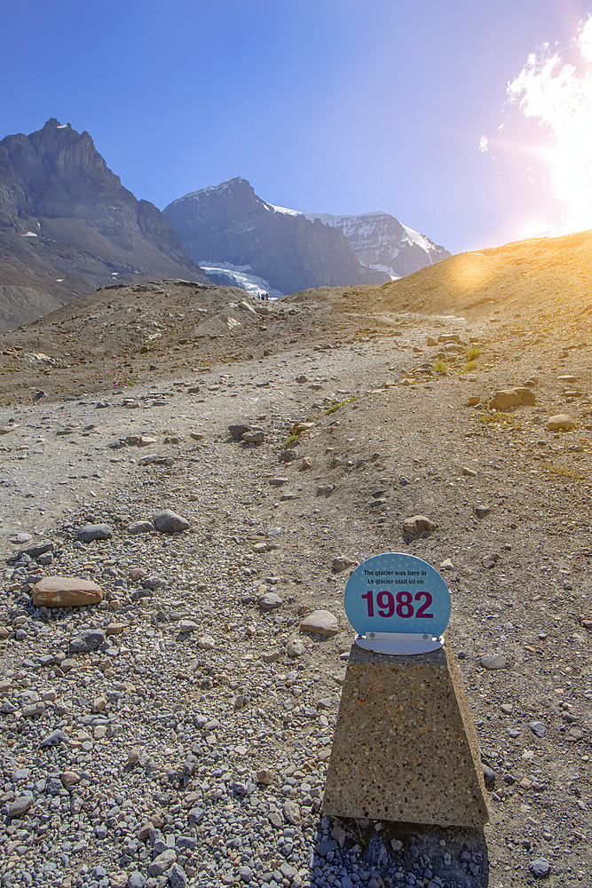
[[550,175],[560,218],[541,234],[592,227],[592,15],[580,26],[572,51],[552,53],[549,44],[532,53],[508,85],[508,95],[525,118],[541,124],[538,154]]

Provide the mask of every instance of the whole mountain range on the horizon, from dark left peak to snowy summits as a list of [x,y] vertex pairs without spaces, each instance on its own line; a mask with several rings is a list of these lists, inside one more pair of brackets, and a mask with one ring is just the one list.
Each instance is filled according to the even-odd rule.
[[448,255],[387,213],[287,210],[244,178],[161,212],[122,186],[88,132],[53,117],[0,141],[0,330],[116,283],[214,281],[281,296],[383,284]]

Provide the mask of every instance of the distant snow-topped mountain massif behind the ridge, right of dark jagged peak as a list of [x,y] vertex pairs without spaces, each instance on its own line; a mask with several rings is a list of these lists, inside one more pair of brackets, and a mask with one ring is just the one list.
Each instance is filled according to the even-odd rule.
[[265,202],[244,178],[185,194],[163,212],[210,278],[250,279],[277,295],[386,283],[450,256],[388,213],[288,210]]

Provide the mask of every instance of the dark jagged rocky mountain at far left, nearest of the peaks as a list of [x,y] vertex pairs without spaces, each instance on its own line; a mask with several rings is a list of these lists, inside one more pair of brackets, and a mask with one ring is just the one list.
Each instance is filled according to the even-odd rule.
[[161,211],[122,186],[90,133],[51,117],[41,130],[0,141],[0,326],[3,286],[27,289],[7,312],[13,323],[38,316],[50,296],[63,304],[147,277],[208,280]]

